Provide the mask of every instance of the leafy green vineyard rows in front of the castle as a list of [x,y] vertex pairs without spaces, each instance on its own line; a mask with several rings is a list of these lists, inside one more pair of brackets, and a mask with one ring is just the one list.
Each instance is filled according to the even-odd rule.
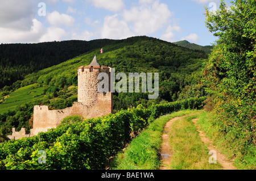
[[[72,124],[66,121],[37,136],[3,142],[0,144],[0,169],[105,169],[109,158],[131,141],[131,133],[139,134],[159,116],[203,108],[205,99],[152,104],[149,108],[139,105]],[[73,118],[79,120],[78,116]]]

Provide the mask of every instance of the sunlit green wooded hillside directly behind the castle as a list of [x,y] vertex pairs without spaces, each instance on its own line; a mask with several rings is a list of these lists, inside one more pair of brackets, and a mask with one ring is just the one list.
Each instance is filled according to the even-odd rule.
[[[12,127],[17,130],[24,127],[29,131],[29,120],[35,105],[49,105],[52,109],[72,106],[77,100],[77,68],[89,65],[94,54],[101,65],[115,68],[115,73],[159,73],[157,99],[148,100],[148,93],[115,92],[114,112],[138,104],[148,107],[152,103],[172,102],[205,94],[203,86],[198,85],[207,62],[204,52],[146,36],[109,40],[109,44],[106,43],[108,40],[104,42],[105,45],[101,47],[104,48],[103,54],[99,53],[100,48],[91,49],[59,65],[26,75],[19,81],[21,88],[11,94],[8,91],[0,92],[0,134],[4,137]],[[38,88],[35,88],[35,84]]]

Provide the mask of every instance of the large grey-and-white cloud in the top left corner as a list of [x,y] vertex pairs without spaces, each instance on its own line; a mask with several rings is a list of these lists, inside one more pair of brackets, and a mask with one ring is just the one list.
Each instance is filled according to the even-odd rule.
[[46,28],[35,19],[37,4],[34,0],[1,0],[0,42],[36,43]]

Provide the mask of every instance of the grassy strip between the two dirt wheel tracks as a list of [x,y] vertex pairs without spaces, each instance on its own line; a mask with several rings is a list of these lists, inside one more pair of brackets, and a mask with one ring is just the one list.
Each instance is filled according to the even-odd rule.
[[172,124],[170,131],[170,147],[174,150],[170,165],[172,170],[221,169],[220,163],[209,163],[209,150],[201,141],[192,122],[197,116],[186,116]]

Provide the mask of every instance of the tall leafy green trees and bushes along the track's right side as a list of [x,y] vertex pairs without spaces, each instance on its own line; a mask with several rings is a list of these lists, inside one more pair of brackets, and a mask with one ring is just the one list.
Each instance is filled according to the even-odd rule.
[[[213,99],[216,134],[243,159],[256,144],[256,2],[221,2],[216,13],[206,9],[206,26],[219,39],[205,68]],[[239,156],[238,156],[239,155]]]

